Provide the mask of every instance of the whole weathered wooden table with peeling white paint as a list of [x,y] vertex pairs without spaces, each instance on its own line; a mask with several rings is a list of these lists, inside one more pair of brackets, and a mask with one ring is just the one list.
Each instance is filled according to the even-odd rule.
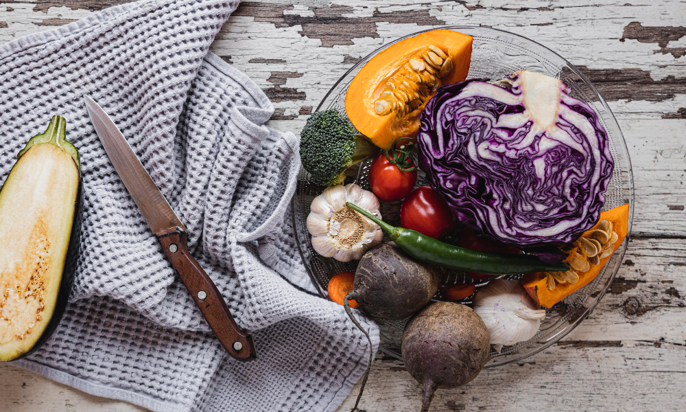
[[[125,0],[0,0],[0,43]],[[543,43],[579,67],[622,127],[633,164],[632,239],[610,293],[563,341],[438,391],[432,411],[675,411],[686,407],[686,1],[263,0],[245,2],[213,50],[298,132],[329,87],[393,38],[486,25]],[[334,1],[334,3],[336,3]],[[139,411],[0,365],[0,411]],[[353,389],[357,393],[357,387]],[[420,388],[379,354],[361,406],[417,411]],[[353,406],[349,396],[342,411]]]

